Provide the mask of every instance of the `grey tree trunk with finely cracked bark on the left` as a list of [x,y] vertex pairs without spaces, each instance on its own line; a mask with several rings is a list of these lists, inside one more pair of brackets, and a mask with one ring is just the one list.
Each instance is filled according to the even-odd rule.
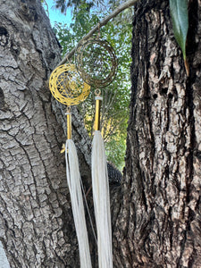
[[[0,6],[0,239],[11,267],[79,267],[64,108],[45,87],[60,47],[39,0]],[[88,179],[90,140],[76,109],[72,121]]]

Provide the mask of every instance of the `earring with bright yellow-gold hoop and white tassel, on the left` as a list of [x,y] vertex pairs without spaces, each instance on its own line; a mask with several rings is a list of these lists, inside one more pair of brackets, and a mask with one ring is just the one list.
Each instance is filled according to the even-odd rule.
[[66,176],[71,195],[72,214],[80,249],[80,267],[91,268],[88,246],[88,231],[85,220],[79,160],[74,142],[71,139],[71,105],[84,101],[90,86],[83,82],[72,64],[57,67],[49,79],[49,88],[56,100],[67,105],[67,140],[65,144]]

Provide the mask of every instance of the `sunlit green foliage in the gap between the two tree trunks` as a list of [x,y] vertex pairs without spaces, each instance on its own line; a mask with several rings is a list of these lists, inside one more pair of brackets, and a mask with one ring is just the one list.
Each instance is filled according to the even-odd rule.
[[[54,31],[63,46],[63,55],[69,53],[88,31],[96,26],[106,13],[91,8],[88,4],[80,4],[73,12],[70,26],[55,23]],[[113,83],[102,89],[104,102],[102,105],[102,134],[105,138],[105,148],[108,161],[119,169],[124,164],[125,140],[127,135],[127,121],[129,119],[130,103],[130,48],[131,48],[131,13],[124,11],[113,21],[109,21],[100,29],[100,38],[107,40],[118,58],[118,71]],[[98,34],[98,33],[97,33]],[[74,61],[73,61],[74,63]],[[92,136],[95,114],[94,94],[79,105],[83,114],[88,134]]]

